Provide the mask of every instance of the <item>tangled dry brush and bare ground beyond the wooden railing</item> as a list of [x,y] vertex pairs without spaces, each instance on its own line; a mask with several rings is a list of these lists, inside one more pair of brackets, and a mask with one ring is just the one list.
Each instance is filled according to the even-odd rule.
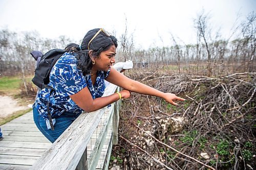
[[172,106],[136,93],[123,100],[111,169],[253,169],[256,73],[129,76],[186,101]]

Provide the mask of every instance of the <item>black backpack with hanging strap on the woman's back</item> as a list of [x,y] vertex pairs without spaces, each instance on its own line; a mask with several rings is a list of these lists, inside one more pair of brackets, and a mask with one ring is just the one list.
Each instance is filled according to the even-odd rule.
[[[54,89],[51,86],[48,86],[50,82],[50,72],[56,61],[62,56],[66,51],[61,49],[53,49],[47,52],[45,55],[42,55],[39,64],[35,69],[35,76],[32,79],[32,82],[38,86],[40,89],[49,88],[51,89],[50,96]],[[51,129],[54,130],[52,123],[52,116],[49,109],[50,105],[50,97],[47,103],[47,112],[49,117],[49,122],[51,125]]]

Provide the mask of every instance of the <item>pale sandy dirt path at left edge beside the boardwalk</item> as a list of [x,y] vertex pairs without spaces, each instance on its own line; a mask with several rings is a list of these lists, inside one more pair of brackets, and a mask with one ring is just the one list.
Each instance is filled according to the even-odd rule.
[[28,109],[28,106],[19,106],[17,100],[10,96],[0,95],[0,119],[3,119],[15,111]]

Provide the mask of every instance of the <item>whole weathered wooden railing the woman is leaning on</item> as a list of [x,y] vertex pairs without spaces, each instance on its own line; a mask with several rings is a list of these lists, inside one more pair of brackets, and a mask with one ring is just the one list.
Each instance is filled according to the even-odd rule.
[[[113,94],[116,90],[119,88],[110,84],[103,96]],[[96,169],[105,143],[108,144],[108,149],[105,151],[104,165],[100,169],[108,169],[112,143],[117,143],[118,110],[119,101],[112,104],[110,108],[104,107],[94,112],[82,113],[52,144],[52,147],[33,164],[31,169]],[[96,131],[96,137],[94,137]],[[106,142],[108,133],[111,137]],[[96,138],[95,141],[94,138]]]

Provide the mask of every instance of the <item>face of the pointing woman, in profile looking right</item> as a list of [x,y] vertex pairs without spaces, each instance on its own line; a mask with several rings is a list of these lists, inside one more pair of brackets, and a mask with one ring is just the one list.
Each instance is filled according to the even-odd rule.
[[101,52],[98,58],[95,58],[94,70],[108,71],[115,63],[116,46],[112,45],[109,50]]

